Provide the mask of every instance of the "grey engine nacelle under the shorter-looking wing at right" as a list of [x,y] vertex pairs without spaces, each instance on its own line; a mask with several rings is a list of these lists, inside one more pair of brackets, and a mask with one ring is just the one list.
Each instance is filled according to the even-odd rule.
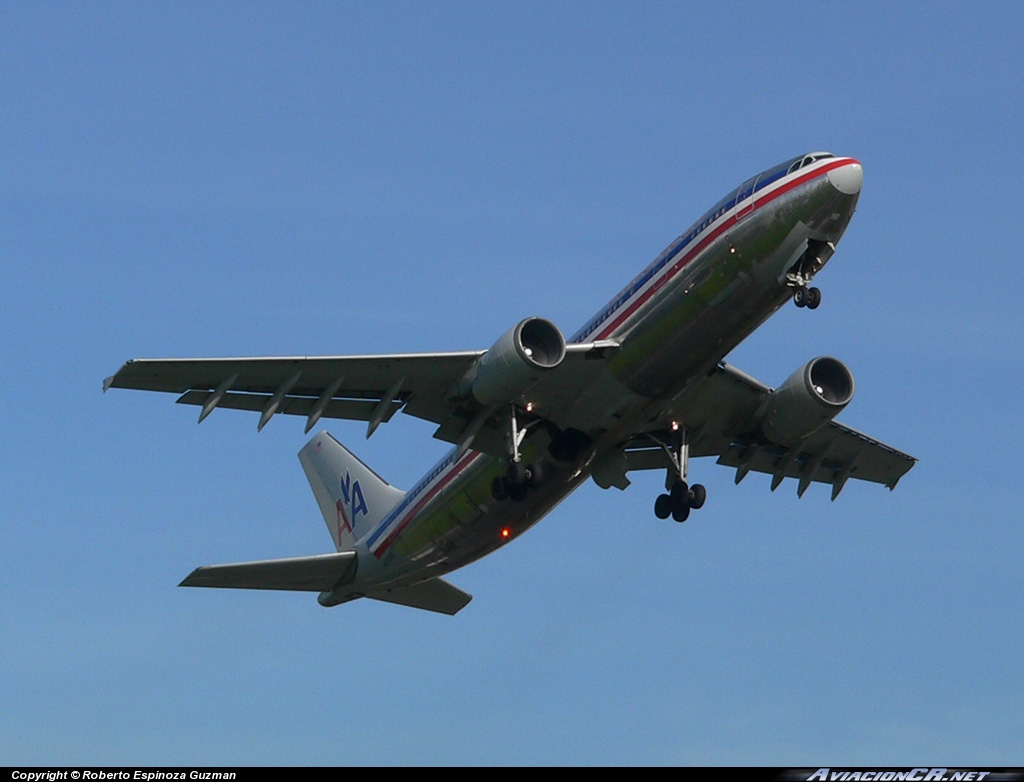
[[853,375],[836,358],[814,358],[768,397],[761,431],[772,442],[796,442],[817,431],[853,398]]

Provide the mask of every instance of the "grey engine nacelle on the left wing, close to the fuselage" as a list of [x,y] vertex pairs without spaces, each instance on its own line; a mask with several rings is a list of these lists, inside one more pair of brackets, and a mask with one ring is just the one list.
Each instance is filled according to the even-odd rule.
[[476,363],[471,393],[480,404],[513,401],[565,357],[565,338],[543,317],[509,329]]

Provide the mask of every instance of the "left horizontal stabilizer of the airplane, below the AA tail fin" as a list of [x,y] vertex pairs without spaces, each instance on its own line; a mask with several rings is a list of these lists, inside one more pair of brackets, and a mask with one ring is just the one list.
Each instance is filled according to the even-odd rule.
[[354,573],[355,552],[348,551],[312,557],[204,565],[193,570],[178,585],[328,592]]

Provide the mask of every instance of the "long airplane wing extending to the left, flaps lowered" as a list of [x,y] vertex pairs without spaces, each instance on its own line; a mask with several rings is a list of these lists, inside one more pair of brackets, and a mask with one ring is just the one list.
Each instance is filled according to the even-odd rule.
[[[540,398],[571,398],[602,357],[608,340],[566,345],[562,362],[545,374]],[[260,414],[258,429],[283,412],[306,417],[308,432],[321,418],[368,422],[369,437],[399,409],[439,425],[436,437],[459,442],[475,411],[453,391],[486,351],[366,356],[242,358],[135,358],[103,382],[180,394],[179,404],[201,406],[202,422],[215,407]],[[531,395],[532,395],[531,391]],[[549,405],[554,406],[554,405]]]

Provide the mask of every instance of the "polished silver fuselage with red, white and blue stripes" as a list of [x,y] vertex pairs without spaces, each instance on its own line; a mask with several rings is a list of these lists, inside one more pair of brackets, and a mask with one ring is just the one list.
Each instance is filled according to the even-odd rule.
[[[556,467],[518,503],[492,496],[507,460],[452,451],[431,471],[446,473],[442,488],[358,541],[353,595],[441,575],[540,521],[589,477],[605,450],[655,425],[670,400],[790,301],[787,273],[808,248],[819,257],[815,271],[827,261],[853,216],[860,176],[850,158],[806,156],[722,199],[569,339],[620,345],[570,405],[552,411],[561,426],[584,431],[593,447],[577,464]],[[549,442],[544,428],[532,430],[523,459],[544,458]]]

